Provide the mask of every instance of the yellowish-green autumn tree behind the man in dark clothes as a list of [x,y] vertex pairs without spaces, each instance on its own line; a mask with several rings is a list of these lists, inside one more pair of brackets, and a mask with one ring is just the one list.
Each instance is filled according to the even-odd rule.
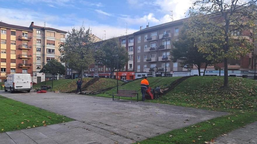
[[59,45],[59,51],[60,60],[72,70],[76,70],[82,78],[84,70],[94,63],[94,35],[90,29],[85,30],[84,26],[79,29],[73,28],[68,32],[65,42]]

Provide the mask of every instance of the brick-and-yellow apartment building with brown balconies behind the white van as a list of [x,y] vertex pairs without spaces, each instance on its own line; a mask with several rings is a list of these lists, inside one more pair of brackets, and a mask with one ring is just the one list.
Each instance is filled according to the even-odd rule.
[[11,73],[32,74],[33,30],[4,22],[0,22],[0,29],[1,81]]

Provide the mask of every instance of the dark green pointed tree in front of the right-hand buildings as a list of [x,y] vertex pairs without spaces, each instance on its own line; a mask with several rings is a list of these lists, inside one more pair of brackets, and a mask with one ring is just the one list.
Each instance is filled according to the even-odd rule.
[[[184,24],[179,39],[173,42],[174,49],[171,50],[173,56],[173,62],[180,60],[180,64],[184,68],[190,68],[195,65],[198,69],[198,75],[201,76],[201,67],[205,64],[204,74],[206,67],[212,65],[214,61],[207,60],[207,54],[198,51],[198,47],[195,45],[194,38],[190,38],[190,33],[186,30],[188,29],[187,23]],[[204,76],[203,74],[203,76]]]

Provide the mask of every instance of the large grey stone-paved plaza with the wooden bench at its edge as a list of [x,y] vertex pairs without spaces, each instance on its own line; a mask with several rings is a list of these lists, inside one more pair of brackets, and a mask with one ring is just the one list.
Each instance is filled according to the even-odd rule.
[[0,134],[4,144],[130,144],[210,120],[224,112],[67,93],[0,95],[73,118],[74,121]]

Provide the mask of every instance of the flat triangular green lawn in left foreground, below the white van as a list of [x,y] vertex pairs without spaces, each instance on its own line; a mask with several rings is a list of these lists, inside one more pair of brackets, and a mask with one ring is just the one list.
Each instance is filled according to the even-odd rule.
[[0,95],[0,133],[72,120]]

